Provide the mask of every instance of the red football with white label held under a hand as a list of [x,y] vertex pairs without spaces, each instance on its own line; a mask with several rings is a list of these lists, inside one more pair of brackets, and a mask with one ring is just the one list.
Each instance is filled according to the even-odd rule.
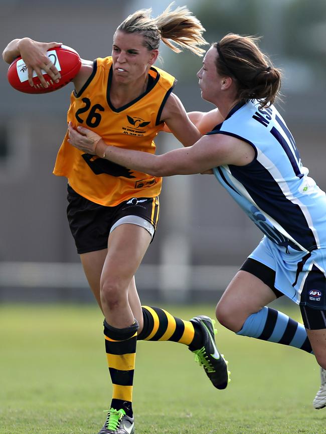
[[18,57],[10,65],[7,74],[8,81],[13,88],[20,92],[25,92],[26,94],[45,94],[53,92],[71,82],[80,70],[81,60],[79,54],[70,47],[62,45],[61,47],[51,48],[47,51],[47,56],[56,66],[57,70],[60,71],[61,79],[59,80],[59,83],[53,82],[51,77],[42,70],[43,76],[48,82],[49,87],[42,87],[40,79],[37,77],[35,71],[33,72],[34,87],[30,86],[25,62],[21,57]]

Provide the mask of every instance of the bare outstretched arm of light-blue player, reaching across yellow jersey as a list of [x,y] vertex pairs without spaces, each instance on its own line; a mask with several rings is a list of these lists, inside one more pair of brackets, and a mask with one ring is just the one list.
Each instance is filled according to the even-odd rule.
[[204,136],[192,146],[153,155],[108,146],[94,131],[84,127],[77,127],[75,130],[71,123],[68,131],[68,141],[75,148],[157,177],[202,173],[224,164],[243,166],[250,163],[255,156],[251,145],[222,134]]

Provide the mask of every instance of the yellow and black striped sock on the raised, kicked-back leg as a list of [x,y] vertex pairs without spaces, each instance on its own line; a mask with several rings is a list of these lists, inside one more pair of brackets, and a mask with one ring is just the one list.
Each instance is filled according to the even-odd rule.
[[200,348],[202,337],[191,321],[177,318],[159,307],[141,306],[143,329],[137,340],[180,342]]

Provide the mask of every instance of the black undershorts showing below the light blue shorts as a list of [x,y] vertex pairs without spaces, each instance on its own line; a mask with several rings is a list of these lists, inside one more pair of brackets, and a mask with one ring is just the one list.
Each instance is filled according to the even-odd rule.
[[[276,297],[279,298],[284,295],[278,289],[275,288],[275,271],[266,265],[262,264],[255,259],[248,258],[243,263],[240,270],[247,271],[258,277],[262,282],[264,282],[270,289],[275,293]],[[301,316],[305,328],[308,330],[319,330],[326,328],[326,310],[313,308],[307,305],[301,305]]]

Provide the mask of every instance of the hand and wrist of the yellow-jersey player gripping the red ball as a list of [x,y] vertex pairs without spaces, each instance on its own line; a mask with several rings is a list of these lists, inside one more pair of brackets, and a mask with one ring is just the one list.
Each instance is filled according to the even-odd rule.
[[31,38],[14,39],[11,41],[3,52],[5,62],[11,64],[17,57],[21,56],[28,69],[28,81],[33,87],[33,71],[36,72],[44,88],[48,87],[42,74],[44,70],[52,80],[58,83],[61,75],[51,60],[46,55],[47,50],[60,47],[62,43],[58,42],[37,42]]

